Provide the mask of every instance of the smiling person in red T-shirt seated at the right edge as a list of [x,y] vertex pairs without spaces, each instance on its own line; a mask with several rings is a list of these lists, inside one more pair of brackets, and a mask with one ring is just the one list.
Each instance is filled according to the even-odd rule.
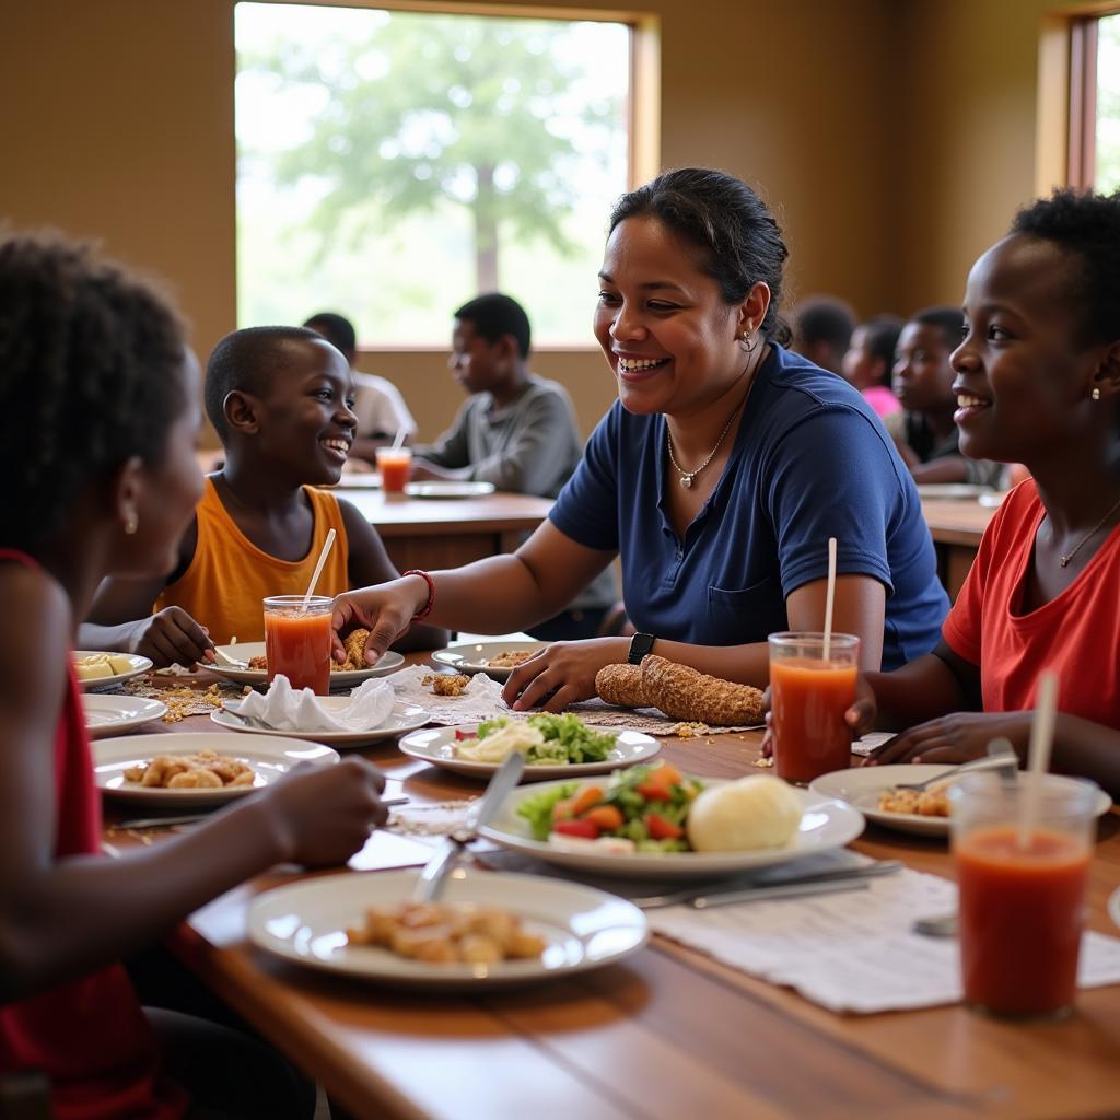
[[[1056,192],[972,267],[952,356],[961,450],[1025,464],[942,642],[869,673],[857,730],[909,728],[871,763],[1025,757],[1035,684],[1058,673],[1054,767],[1120,796],[1120,195]],[[876,721],[876,707],[878,718]]]

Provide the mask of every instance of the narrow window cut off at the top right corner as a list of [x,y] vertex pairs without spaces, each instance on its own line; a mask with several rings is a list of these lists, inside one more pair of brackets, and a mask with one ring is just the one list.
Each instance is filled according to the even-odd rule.
[[1120,12],[1070,28],[1071,186],[1120,188]]

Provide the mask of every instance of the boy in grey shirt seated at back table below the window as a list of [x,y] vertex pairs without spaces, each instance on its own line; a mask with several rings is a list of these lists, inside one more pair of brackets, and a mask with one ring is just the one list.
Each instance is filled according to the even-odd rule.
[[[469,479],[500,491],[556,497],[584,454],[571,398],[559,382],[530,372],[529,316],[492,292],[455,312],[455,380],[470,394],[435,444],[417,447],[412,478]],[[567,610],[534,626],[542,641],[594,637],[617,598],[607,569]]]

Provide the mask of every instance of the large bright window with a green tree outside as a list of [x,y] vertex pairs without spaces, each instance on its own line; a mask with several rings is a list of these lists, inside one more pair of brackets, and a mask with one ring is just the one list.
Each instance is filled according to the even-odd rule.
[[338,310],[373,346],[444,346],[500,289],[586,345],[631,185],[634,28],[239,3],[242,326]]

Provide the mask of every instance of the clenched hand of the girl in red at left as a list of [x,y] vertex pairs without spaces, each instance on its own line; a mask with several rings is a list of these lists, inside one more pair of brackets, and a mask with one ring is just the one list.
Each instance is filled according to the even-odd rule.
[[261,799],[283,858],[305,867],[344,864],[384,824],[385,778],[364,758],[337,766],[298,766]]

